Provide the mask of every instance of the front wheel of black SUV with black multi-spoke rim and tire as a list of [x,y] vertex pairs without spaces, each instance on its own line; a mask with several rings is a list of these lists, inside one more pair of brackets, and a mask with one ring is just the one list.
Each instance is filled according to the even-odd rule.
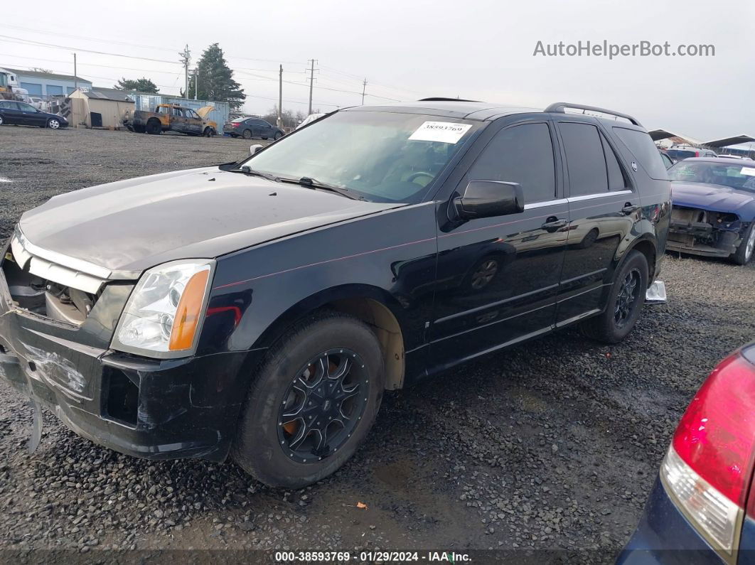
[[[347,367],[343,382],[331,380],[339,367]],[[325,396],[318,396],[323,389]],[[350,315],[314,315],[267,353],[245,400],[233,459],[270,487],[300,488],[320,481],[347,462],[365,440],[383,390],[383,356],[372,330]],[[340,400],[328,397],[350,392]],[[316,428],[322,428],[320,419],[325,417],[331,423],[325,424],[326,444],[318,451],[322,434]],[[313,427],[305,431],[300,426],[307,418]]]

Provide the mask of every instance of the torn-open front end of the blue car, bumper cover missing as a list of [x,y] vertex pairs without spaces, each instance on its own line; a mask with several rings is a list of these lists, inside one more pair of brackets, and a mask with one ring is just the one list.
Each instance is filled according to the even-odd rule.
[[666,250],[728,257],[736,252],[748,226],[733,213],[674,206]]

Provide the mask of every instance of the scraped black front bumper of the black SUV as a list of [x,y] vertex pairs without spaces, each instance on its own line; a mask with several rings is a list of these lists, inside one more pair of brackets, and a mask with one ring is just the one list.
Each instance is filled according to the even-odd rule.
[[254,352],[157,361],[85,345],[75,330],[14,307],[0,270],[0,379],[76,434],[146,459],[226,458]]

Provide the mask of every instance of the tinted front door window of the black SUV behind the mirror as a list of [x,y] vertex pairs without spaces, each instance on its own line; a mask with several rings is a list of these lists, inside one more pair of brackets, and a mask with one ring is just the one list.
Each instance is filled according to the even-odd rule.
[[553,200],[556,167],[547,124],[522,124],[499,131],[472,165],[469,180],[519,183],[528,204]]

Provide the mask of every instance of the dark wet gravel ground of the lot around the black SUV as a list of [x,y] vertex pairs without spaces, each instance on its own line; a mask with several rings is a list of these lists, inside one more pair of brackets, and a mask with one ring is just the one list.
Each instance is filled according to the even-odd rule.
[[[5,238],[52,195],[234,161],[248,142],[0,127],[0,148]],[[667,256],[663,269],[669,302],[647,307],[623,343],[566,330],[387,394],[365,447],[304,490],[270,490],[231,462],[121,456],[48,413],[29,455],[31,410],[0,383],[0,560],[29,549],[534,548],[609,562],[692,394],[755,336],[755,265]]]

